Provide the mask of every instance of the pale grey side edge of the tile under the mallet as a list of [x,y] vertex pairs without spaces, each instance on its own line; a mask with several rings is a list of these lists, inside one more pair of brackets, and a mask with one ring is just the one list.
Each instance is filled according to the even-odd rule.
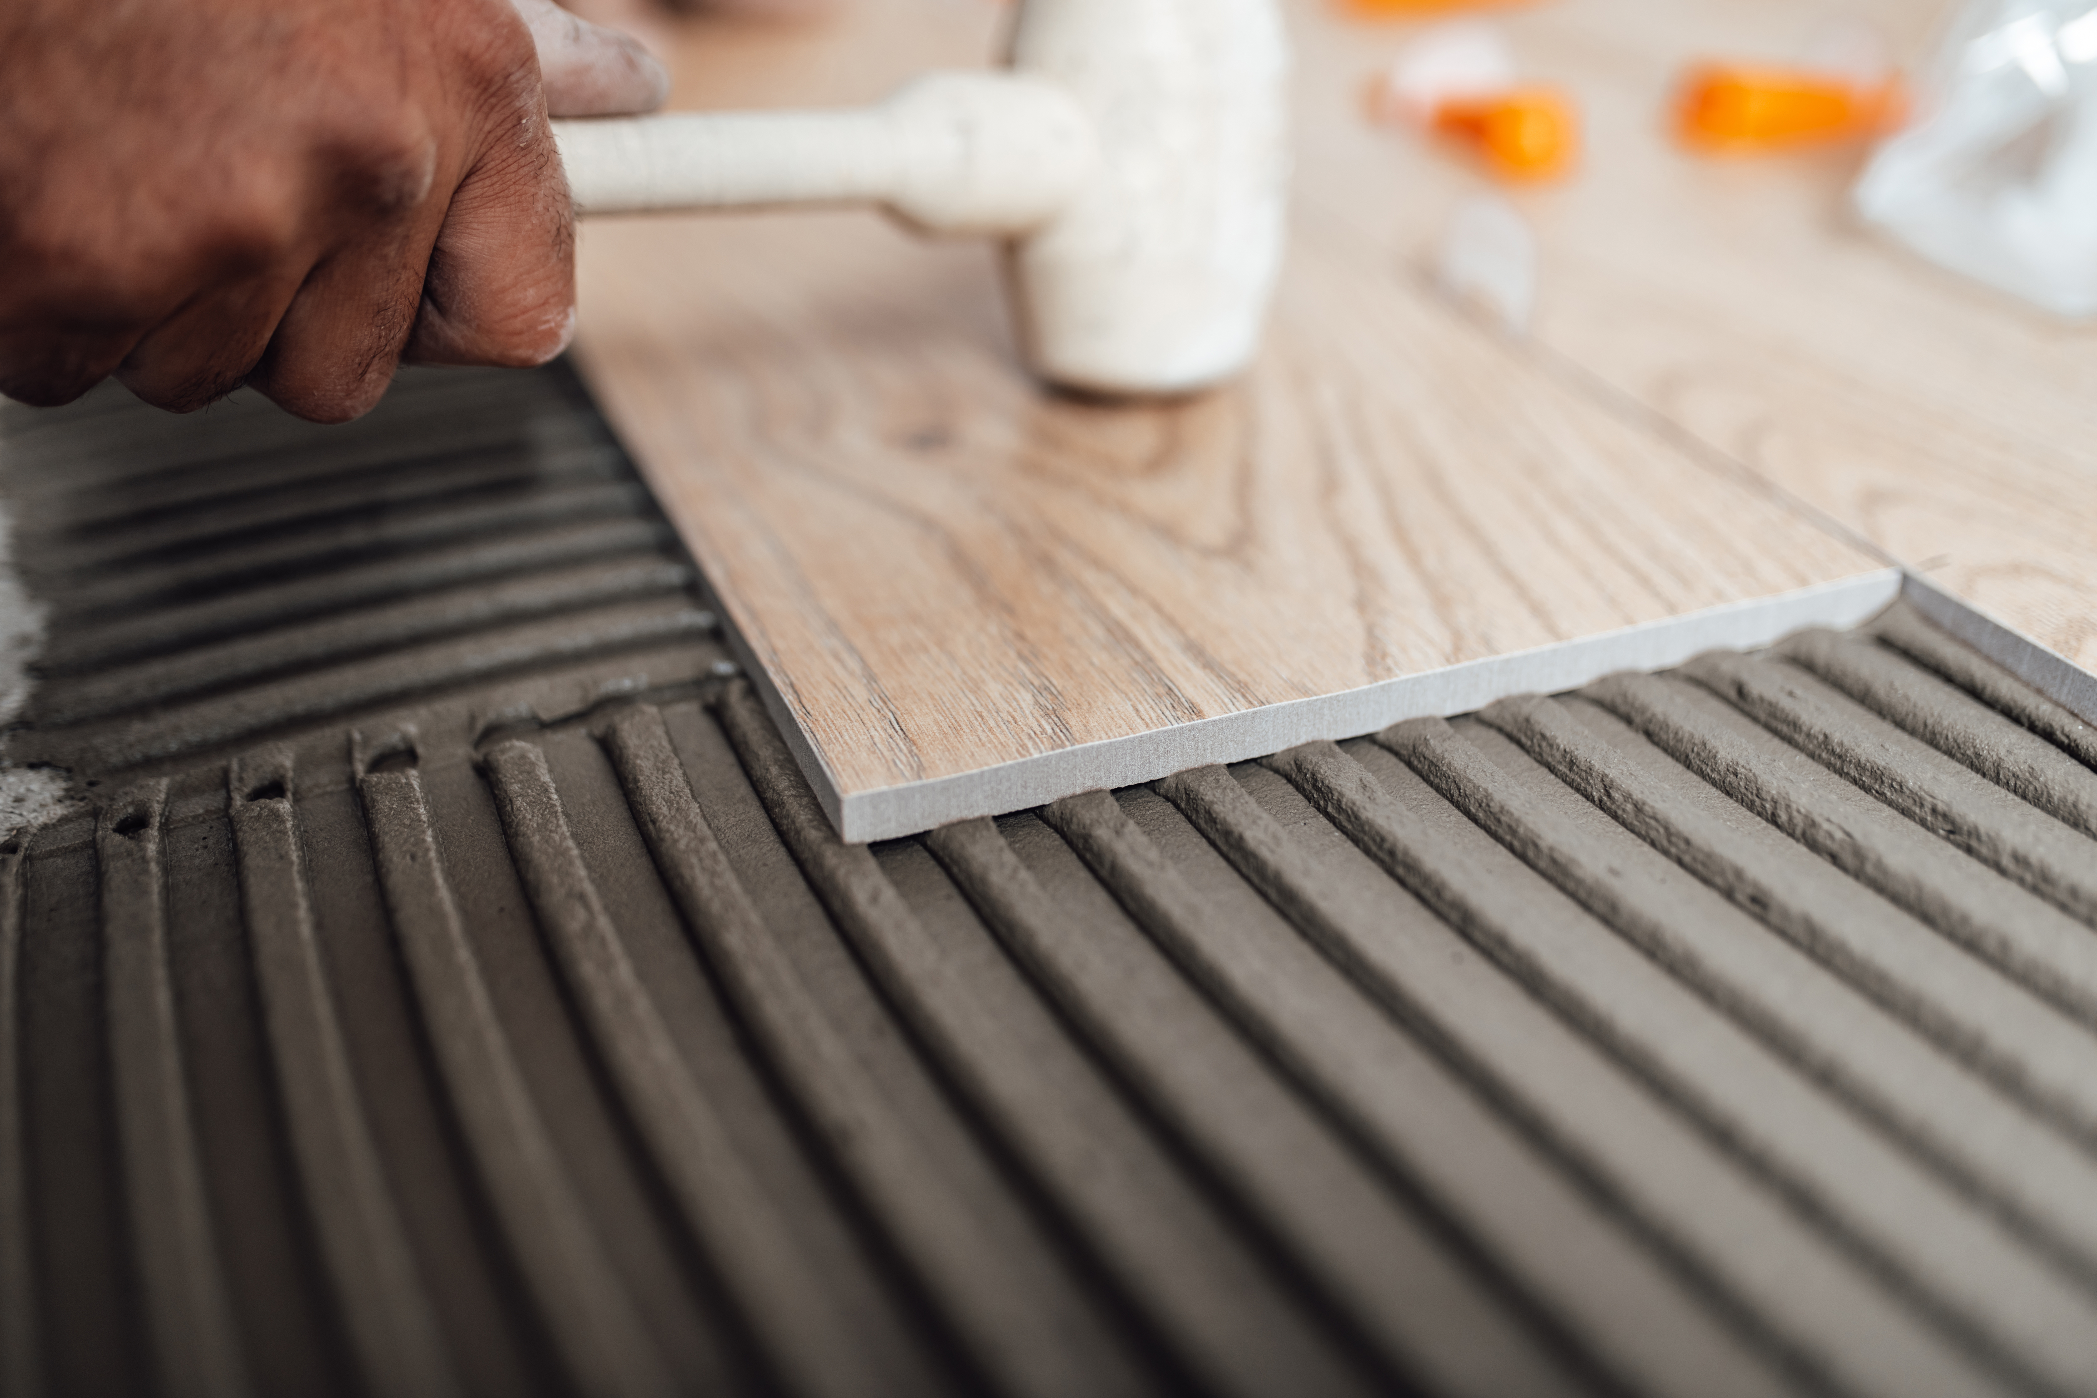
[[843,799],[770,675],[761,664],[753,664],[740,637],[730,639],[830,822],[845,840],[862,845],[918,834],[956,820],[1023,811],[1084,790],[1155,782],[1204,763],[1241,763],[1317,738],[1357,738],[1403,719],[1470,713],[1510,694],[1573,690],[1615,671],[1665,669],[1705,650],[1770,646],[1806,627],[1856,627],[1900,597],[1904,585],[1906,574],[1900,568],[1879,568],[1837,583],[1730,602],[1577,641],[1401,675],[1340,694],[1267,704]]

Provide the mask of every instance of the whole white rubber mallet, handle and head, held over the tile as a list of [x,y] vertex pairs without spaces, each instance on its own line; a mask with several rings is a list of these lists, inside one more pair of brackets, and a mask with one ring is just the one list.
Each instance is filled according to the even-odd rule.
[[1288,224],[1275,0],[1025,0],[1009,71],[862,111],[554,122],[581,214],[877,203],[1007,239],[1046,381],[1176,394],[1254,356]]

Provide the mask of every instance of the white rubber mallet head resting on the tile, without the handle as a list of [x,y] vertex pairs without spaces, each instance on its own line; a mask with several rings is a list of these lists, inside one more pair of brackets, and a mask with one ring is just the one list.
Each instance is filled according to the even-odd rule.
[[1051,384],[1176,394],[1258,352],[1288,235],[1288,38],[1273,0],[1028,0],[1013,69],[1067,90],[1095,161],[1011,243]]

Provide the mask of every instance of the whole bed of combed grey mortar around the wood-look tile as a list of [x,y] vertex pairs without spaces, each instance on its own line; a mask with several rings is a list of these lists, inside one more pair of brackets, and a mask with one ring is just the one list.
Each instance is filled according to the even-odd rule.
[[0,497],[4,1392],[2097,1392],[2097,744],[1906,610],[845,847],[564,369]]

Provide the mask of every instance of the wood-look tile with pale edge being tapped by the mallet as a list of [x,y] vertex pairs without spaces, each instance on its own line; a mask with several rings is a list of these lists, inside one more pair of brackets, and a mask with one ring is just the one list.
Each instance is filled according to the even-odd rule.
[[[688,96],[858,99],[988,52],[992,19],[866,0],[715,50],[700,31]],[[1403,159],[1336,117],[1363,40],[1296,19],[1292,262],[1260,365],[1208,398],[1042,396],[990,249],[870,216],[585,231],[591,384],[847,838],[1856,620],[1891,595],[1883,560],[1426,291],[1392,254],[1392,191],[1369,189]]]

